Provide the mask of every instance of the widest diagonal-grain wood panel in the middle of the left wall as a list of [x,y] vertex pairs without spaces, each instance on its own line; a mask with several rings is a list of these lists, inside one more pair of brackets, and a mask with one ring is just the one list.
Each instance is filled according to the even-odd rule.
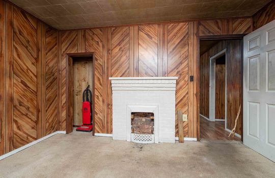
[[13,144],[17,149],[37,139],[37,20],[14,8],[13,25]]

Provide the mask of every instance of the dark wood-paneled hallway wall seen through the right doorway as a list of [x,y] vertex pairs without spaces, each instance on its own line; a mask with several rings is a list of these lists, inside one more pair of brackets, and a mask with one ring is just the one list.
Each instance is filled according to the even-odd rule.
[[[209,58],[223,49],[227,49],[227,128],[231,130],[242,104],[242,40],[223,40],[201,55],[200,113],[209,117]],[[242,135],[242,110],[236,133]]]

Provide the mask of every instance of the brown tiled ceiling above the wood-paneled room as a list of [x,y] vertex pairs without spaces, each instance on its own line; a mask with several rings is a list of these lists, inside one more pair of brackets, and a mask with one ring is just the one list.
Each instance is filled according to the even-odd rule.
[[57,29],[252,16],[270,0],[10,0]]

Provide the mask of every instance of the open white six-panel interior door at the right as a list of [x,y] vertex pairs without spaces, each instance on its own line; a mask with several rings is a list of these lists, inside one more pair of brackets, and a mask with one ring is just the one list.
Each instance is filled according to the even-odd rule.
[[243,143],[275,162],[275,20],[243,42]]

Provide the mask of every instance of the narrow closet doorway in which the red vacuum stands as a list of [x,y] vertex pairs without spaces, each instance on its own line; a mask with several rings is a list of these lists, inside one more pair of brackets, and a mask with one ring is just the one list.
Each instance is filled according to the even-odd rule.
[[[94,52],[66,54],[66,133],[82,125],[82,92],[90,85],[94,118]],[[93,120],[94,126],[94,120]],[[93,135],[94,135],[93,128]]]

